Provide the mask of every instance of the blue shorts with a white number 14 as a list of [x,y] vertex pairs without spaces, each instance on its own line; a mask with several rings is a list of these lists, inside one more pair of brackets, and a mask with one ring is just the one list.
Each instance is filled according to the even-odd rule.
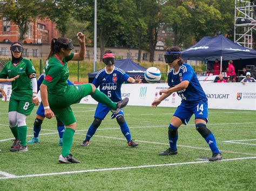
[[191,116],[194,114],[195,119],[204,119],[208,122],[208,104],[205,101],[199,101],[193,104],[181,103],[173,116],[180,118],[184,125],[190,121]]

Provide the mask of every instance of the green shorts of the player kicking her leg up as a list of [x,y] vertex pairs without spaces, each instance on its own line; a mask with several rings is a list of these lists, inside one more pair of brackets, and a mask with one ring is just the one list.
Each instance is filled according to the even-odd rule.
[[68,86],[63,95],[48,94],[50,108],[65,126],[70,125],[76,122],[70,105],[79,103],[83,97],[91,94],[91,92],[91,84]]

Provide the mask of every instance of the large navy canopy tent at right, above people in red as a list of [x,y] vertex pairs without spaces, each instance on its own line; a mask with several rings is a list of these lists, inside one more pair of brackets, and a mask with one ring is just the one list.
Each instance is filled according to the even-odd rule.
[[222,69],[223,60],[256,59],[256,51],[233,43],[221,34],[202,38],[197,44],[182,51],[181,56],[184,60],[219,59]]

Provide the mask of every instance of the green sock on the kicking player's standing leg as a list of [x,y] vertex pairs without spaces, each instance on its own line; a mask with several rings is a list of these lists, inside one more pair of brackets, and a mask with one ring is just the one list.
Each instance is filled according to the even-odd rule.
[[75,130],[70,128],[66,128],[63,134],[63,144],[62,144],[62,155],[66,157],[70,153],[70,149],[73,143],[73,136],[75,134]]

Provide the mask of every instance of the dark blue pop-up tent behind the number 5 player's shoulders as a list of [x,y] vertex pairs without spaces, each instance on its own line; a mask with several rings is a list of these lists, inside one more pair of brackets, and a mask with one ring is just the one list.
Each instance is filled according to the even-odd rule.
[[[144,79],[144,73],[146,71],[146,68],[139,66],[137,63],[133,62],[130,59],[122,59],[122,60],[116,60],[116,63],[114,63],[114,66],[117,68],[120,68],[124,70],[126,74],[128,74],[130,77],[134,76],[140,76],[142,78],[143,83],[147,83]],[[91,83],[96,75],[98,74],[99,70],[96,72],[89,73],[89,83]]]

